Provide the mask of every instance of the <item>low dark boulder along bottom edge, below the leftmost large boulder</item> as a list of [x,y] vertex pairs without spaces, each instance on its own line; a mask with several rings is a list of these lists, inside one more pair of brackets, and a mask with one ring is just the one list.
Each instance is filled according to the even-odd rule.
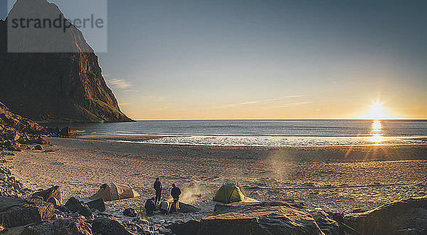
[[81,218],[56,219],[40,224],[26,226],[21,235],[43,235],[43,234],[92,234],[92,226]]

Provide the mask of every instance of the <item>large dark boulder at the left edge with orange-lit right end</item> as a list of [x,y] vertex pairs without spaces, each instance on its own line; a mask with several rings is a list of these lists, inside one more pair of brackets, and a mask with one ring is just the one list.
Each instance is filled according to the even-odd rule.
[[22,226],[52,219],[53,204],[41,199],[0,198],[0,221],[4,227]]

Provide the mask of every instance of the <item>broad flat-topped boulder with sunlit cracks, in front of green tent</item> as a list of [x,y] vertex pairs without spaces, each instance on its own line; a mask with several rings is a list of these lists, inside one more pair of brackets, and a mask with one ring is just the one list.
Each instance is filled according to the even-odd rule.
[[236,202],[219,211],[201,219],[199,234],[323,234],[302,202]]

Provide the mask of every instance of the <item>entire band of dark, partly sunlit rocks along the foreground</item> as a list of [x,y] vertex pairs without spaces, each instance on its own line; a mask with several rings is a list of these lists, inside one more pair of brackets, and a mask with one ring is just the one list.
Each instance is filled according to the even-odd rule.
[[[2,153],[2,157],[4,153]],[[386,204],[363,213],[328,213],[308,210],[299,201],[237,202],[217,204],[214,214],[200,221],[178,221],[158,226],[135,209],[119,221],[105,211],[102,199],[80,202],[75,197],[63,204],[59,187],[39,192],[23,189],[2,168],[0,227],[3,234],[426,234],[427,197]],[[10,180],[8,180],[10,179]],[[9,188],[9,190],[4,190]],[[5,197],[6,196],[6,197]],[[181,213],[196,211],[181,205]]]

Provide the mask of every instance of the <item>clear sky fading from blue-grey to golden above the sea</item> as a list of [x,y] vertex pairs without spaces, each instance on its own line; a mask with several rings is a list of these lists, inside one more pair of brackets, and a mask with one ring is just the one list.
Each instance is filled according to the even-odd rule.
[[427,1],[110,0],[97,56],[135,120],[427,119],[426,12]]

